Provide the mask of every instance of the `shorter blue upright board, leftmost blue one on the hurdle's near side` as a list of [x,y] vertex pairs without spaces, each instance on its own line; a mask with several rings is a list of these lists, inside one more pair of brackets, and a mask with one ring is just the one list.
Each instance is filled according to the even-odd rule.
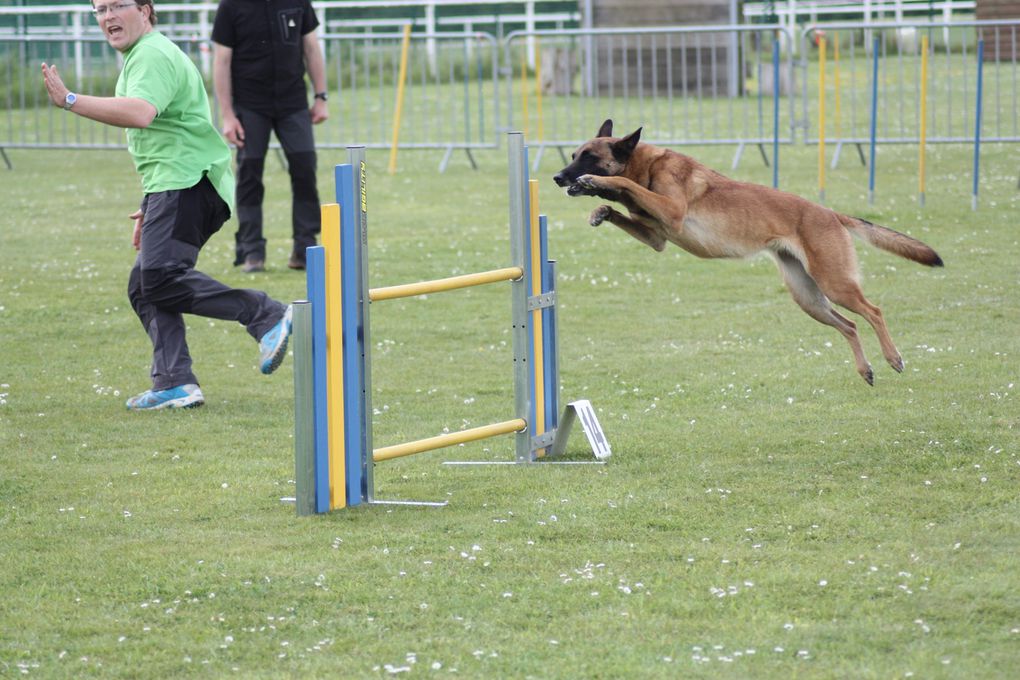
[[306,251],[307,294],[312,306],[312,389],[314,398],[315,512],[329,512],[329,440],[325,378],[325,249]]

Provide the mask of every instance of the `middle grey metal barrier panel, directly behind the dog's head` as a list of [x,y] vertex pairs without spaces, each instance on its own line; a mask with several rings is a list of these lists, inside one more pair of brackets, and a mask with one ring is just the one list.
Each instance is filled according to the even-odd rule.
[[[794,139],[793,63],[779,50],[790,39],[774,25],[515,32],[503,45],[507,122],[540,157],[616,117],[654,144],[735,145],[734,165],[757,145],[767,163],[766,144]],[[532,41],[542,58],[522,77]]]

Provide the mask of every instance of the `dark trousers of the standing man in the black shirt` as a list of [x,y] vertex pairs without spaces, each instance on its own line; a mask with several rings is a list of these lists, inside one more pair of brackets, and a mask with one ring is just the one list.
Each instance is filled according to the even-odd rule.
[[315,140],[311,113],[302,109],[280,117],[257,113],[244,107],[235,112],[245,128],[245,146],[238,150],[238,231],[235,234],[234,264],[244,264],[253,256],[265,259],[262,230],[262,174],[269,148],[269,134],[275,133],[287,156],[291,174],[291,231],[294,253],[304,259],[305,248],[315,245],[319,232],[320,208],[315,185]]

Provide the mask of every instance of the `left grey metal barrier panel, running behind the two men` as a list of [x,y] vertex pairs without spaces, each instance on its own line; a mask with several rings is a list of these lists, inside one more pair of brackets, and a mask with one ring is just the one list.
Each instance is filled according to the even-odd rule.
[[[196,63],[209,43],[169,36]],[[402,34],[325,34],[330,117],[316,126],[320,148],[345,148],[351,140],[389,148]],[[84,47],[83,47],[84,46]],[[496,147],[499,90],[496,40],[488,34],[412,34],[402,148]],[[75,54],[76,52],[76,54]],[[75,58],[76,57],[76,58]],[[0,148],[117,148],[121,133],[49,104],[39,64],[58,64],[68,87],[89,94],[113,93],[119,55],[102,37],[70,40],[0,36]],[[73,64],[73,67],[71,67]],[[211,84],[209,87],[211,92]],[[214,97],[214,109],[218,109]],[[218,110],[213,113],[218,116]]]

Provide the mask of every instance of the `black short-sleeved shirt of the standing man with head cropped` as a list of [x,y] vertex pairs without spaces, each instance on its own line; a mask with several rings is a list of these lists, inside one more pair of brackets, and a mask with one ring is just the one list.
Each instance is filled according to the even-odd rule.
[[302,38],[317,27],[310,0],[220,0],[212,40],[234,50],[234,104],[267,115],[306,108]]

